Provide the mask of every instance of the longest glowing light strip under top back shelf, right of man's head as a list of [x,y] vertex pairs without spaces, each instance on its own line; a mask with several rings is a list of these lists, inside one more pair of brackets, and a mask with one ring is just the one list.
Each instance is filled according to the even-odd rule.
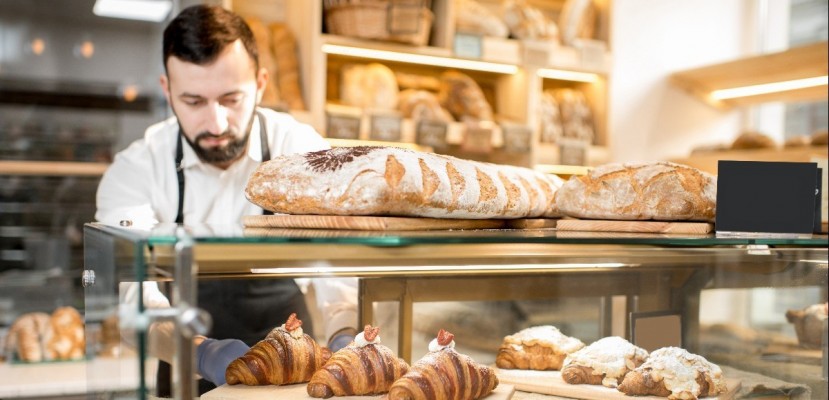
[[338,44],[324,44],[322,45],[322,51],[326,54],[337,54],[341,56],[371,58],[375,60],[397,61],[421,65],[433,65],[437,67],[493,72],[498,74],[511,75],[518,72],[518,67],[510,64],[466,60],[452,57],[430,56],[425,54],[402,53],[389,50],[367,49],[363,47],[342,46]]

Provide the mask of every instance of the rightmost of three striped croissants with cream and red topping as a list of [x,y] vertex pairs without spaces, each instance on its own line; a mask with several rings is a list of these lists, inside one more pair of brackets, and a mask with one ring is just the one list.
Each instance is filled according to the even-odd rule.
[[389,400],[476,400],[495,390],[495,372],[455,351],[452,337],[441,329],[429,353],[392,384]]

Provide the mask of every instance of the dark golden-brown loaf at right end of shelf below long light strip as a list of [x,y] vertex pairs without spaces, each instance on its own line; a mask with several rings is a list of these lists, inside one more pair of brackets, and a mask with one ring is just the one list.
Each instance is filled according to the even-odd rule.
[[458,71],[441,74],[438,98],[458,121],[492,121],[492,106],[478,83],[466,74]]

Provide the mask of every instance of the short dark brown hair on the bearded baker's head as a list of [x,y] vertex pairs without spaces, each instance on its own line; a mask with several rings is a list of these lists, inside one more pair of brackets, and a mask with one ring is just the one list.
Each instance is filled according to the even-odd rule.
[[237,39],[242,40],[255,70],[259,70],[256,39],[242,17],[220,6],[187,7],[164,29],[164,70],[171,56],[197,65],[209,64]]

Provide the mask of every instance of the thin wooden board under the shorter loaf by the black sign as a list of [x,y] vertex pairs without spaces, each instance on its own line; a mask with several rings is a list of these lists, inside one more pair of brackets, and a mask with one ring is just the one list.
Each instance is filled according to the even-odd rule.
[[714,230],[708,222],[663,221],[604,221],[587,219],[562,219],[556,224],[560,231],[637,232],[707,234]]

